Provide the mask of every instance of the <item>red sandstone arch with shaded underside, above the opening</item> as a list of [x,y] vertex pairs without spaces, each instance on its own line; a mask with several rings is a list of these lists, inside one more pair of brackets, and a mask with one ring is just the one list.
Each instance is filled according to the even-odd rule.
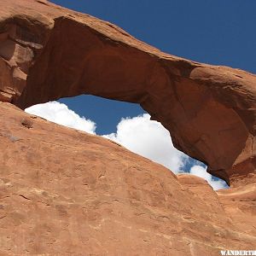
[[26,108],[92,94],[137,102],[207,172],[233,186],[255,178],[253,74],[167,55],[48,1],[0,4],[2,101]]

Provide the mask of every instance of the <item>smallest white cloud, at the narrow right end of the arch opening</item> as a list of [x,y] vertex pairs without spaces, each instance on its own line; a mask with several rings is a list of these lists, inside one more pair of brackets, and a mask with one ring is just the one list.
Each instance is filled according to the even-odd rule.
[[209,183],[214,190],[226,188],[226,183],[223,180],[213,179],[212,175],[207,172],[207,167],[192,166],[190,168],[190,174],[204,178],[205,180],[207,180],[207,183]]

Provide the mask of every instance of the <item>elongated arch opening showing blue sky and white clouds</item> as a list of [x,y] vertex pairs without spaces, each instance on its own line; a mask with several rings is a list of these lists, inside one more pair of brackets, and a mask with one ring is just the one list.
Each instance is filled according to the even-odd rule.
[[113,140],[176,174],[202,177],[213,189],[228,188],[223,180],[207,173],[207,166],[201,161],[177,150],[169,131],[151,120],[138,104],[83,95],[34,105],[26,112]]

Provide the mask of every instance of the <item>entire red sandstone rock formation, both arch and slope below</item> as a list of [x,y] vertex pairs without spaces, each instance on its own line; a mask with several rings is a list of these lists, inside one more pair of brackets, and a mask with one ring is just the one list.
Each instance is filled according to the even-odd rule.
[[[0,253],[255,249],[255,75],[167,55],[45,0],[0,6]],[[20,110],[81,94],[139,103],[232,189]]]

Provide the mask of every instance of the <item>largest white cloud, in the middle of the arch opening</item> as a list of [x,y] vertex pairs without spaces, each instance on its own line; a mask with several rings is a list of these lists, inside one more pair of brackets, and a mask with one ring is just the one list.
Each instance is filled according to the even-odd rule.
[[181,172],[185,160],[189,158],[173,147],[169,131],[159,122],[150,120],[148,113],[134,118],[121,119],[116,133],[104,137],[166,166],[175,173]]

